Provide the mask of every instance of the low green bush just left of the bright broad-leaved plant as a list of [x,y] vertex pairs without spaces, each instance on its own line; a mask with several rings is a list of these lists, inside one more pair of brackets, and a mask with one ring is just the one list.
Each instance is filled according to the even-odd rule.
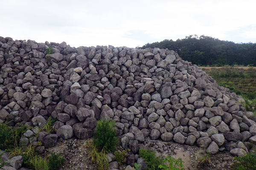
[[156,153],[152,150],[141,148],[139,150],[139,156],[147,164],[147,170],[160,170],[158,166],[163,164],[163,158],[160,156],[156,157]]

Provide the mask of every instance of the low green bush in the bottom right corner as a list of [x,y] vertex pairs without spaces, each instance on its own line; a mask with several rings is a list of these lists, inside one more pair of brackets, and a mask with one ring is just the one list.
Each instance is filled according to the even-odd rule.
[[256,170],[256,153],[247,153],[234,159],[233,170]]

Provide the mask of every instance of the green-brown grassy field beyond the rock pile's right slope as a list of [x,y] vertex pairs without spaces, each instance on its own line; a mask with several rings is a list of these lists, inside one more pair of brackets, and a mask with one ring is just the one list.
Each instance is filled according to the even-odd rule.
[[247,111],[256,114],[256,67],[201,67],[218,85],[242,96]]

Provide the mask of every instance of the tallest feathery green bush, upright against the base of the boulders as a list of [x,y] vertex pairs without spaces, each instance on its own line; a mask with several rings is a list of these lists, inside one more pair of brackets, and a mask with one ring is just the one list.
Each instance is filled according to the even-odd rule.
[[95,144],[99,152],[102,150],[113,152],[115,150],[116,144],[118,142],[115,125],[116,122],[113,120],[98,120],[97,126],[93,133],[93,144]]

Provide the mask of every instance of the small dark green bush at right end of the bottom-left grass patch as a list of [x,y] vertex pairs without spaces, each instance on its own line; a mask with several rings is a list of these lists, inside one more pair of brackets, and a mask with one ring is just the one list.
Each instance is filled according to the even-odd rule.
[[50,156],[48,156],[48,160],[50,170],[58,170],[65,163],[65,158],[60,155],[56,155],[55,153],[52,153]]

